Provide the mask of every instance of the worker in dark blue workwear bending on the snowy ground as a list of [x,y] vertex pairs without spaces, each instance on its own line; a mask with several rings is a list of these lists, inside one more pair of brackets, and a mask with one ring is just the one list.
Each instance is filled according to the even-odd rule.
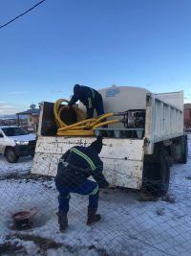
[[[89,147],[76,146],[62,155],[55,176],[59,192],[57,216],[60,231],[68,227],[70,193],[89,195],[88,225],[100,220],[100,215],[96,214],[99,188],[113,187],[102,174],[103,163],[98,156],[101,149],[102,138],[98,136]],[[88,179],[91,175],[96,181]]]

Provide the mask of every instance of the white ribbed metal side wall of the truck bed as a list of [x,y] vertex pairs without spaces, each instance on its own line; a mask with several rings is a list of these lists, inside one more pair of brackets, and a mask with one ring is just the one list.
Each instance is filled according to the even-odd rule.
[[152,154],[154,144],[183,135],[183,112],[174,105],[165,103],[147,94],[145,138],[146,154]]

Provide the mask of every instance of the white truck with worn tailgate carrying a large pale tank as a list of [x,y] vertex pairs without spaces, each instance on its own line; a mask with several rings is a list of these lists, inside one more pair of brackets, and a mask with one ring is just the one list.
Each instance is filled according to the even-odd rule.
[[[114,186],[164,196],[168,192],[170,167],[174,162],[187,161],[183,91],[156,94],[145,88],[116,85],[98,91],[105,112],[115,113],[107,120],[117,120],[108,128],[94,129],[95,136],[103,137],[104,146],[99,155],[103,174]],[[57,133],[53,107],[54,103],[48,102],[40,106],[32,174],[56,175],[57,164],[65,151],[74,146],[89,146],[95,140],[95,136]],[[71,109],[61,118],[68,125],[77,122]]]

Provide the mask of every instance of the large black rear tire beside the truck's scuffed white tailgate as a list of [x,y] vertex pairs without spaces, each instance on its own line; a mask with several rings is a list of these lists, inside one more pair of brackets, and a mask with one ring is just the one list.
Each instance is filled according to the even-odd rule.
[[155,197],[163,197],[168,192],[169,180],[169,154],[161,148],[156,162],[144,163],[142,190]]

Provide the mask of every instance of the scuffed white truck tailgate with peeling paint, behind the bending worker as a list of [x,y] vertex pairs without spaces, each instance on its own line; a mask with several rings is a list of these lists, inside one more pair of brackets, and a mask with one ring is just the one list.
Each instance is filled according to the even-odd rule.
[[[89,146],[95,138],[39,137],[32,174],[56,175],[61,155],[74,146]],[[104,175],[116,186],[139,189],[142,183],[143,140],[105,138],[100,153]]]

